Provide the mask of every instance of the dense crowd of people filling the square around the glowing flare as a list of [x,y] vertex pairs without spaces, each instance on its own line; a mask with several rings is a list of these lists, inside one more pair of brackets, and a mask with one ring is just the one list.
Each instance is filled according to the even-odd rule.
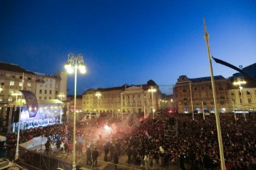
[[[235,121],[233,113],[220,114],[226,169],[255,169],[256,114],[247,115],[246,121],[242,115],[237,115],[237,118]],[[105,125],[109,125],[110,131],[102,128]],[[165,130],[174,126],[178,127],[176,135],[167,136]],[[155,119],[150,116],[141,119],[137,114],[123,119],[100,117],[78,125],[76,135],[77,153],[86,157],[87,164],[92,164],[92,151],[97,149],[98,156],[104,154],[106,162],[114,161],[115,158],[118,164],[118,156],[126,154],[129,164],[145,166],[146,169],[154,164],[164,166],[170,163],[179,164],[181,169],[188,166],[189,169],[220,169],[215,115],[207,115],[206,120],[203,120],[202,115],[194,115],[193,120],[187,114],[159,114]],[[72,124],[23,130],[20,142],[38,136],[50,137],[49,140],[55,144],[59,141],[63,143],[65,152],[72,153]],[[6,138],[6,147],[15,149],[16,133],[7,134]],[[97,159],[92,159],[97,165]]]

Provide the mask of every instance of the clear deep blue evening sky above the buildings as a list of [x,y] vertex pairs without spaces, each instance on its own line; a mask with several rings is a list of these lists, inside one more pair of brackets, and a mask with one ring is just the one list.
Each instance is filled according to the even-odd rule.
[[[255,63],[254,0],[0,0],[0,61],[54,74],[72,52],[87,67],[78,94],[149,79],[171,94],[181,75],[210,77],[203,18],[213,57],[236,67]],[[214,75],[235,73],[212,64]],[[74,93],[74,75],[68,89]]]

